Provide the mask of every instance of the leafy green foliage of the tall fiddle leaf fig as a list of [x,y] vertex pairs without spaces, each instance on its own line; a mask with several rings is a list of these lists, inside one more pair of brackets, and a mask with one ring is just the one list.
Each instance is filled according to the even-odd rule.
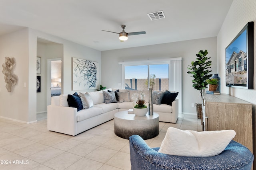
[[191,65],[188,65],[188,74],[192,74],[191,77],[194,79],[192,80],[193,87],[196,90],[199,90],[201,94],[201,98],[203,99],[202,93],[205,88],[207,88],[208,83],[206,82],[207,79],[212,77],[212,74],[209,74],[212,70],[209,70],[212,65],[212,61],[209,61],[211,57],[206,57],[208,51],[200,50],[198,54],[196,54],[196,61],[192,61]]

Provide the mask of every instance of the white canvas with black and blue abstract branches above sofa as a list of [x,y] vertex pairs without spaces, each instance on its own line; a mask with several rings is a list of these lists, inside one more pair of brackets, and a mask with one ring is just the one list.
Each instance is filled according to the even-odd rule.
[[72,90],[98,89],[99,63],[74,57],[72,60]]

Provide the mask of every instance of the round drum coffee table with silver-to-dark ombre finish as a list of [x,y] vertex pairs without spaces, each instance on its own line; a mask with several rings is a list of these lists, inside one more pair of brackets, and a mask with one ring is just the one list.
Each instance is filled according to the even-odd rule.
[[151,139],[159,134],[159,115],[136,116],[128,111],[119,111],[114,115],[115,134],[129,139],[132,135],[140,135],[142,139]]

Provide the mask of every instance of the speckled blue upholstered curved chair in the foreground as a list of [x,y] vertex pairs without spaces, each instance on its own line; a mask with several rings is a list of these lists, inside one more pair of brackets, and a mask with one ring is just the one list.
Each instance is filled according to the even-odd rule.
[[163,154],[138,135],[130,136],[129,142],[132,170],[251,170],[254,159],[249,149],[235,141],[211,157]]

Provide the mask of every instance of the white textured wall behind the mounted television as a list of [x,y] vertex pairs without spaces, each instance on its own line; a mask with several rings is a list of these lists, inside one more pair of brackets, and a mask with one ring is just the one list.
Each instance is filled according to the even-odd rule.
[[[221,92],[230,94],[253,104],[253,150],[256,154],[256,1],[255,0],[234,0],[226,19],[218,34],[218,70],[220,77],[225,80],[225,49],[236,37],[241,29],[249,21],[254,21],[254,89],[246,90],[240,88],[226,87],[225,82],[221,83]],[[242,114],[242,113],[241,113]],[[254,167],[256,167],[254,159]]]

